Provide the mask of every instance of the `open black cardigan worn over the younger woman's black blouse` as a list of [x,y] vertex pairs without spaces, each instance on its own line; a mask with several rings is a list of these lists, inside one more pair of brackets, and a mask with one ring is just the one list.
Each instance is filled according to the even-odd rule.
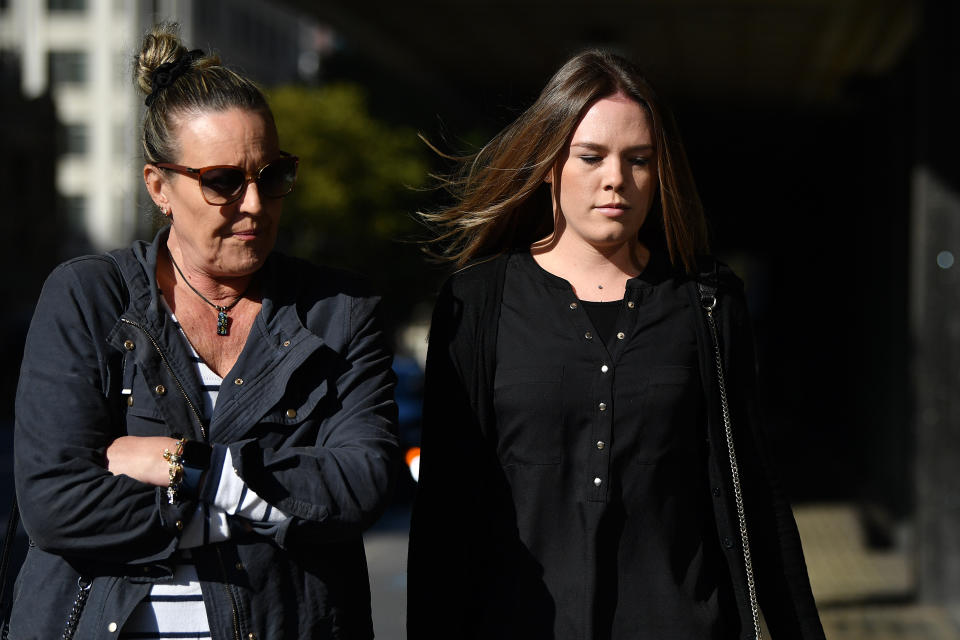
[[[426,456],[410,533],[411,640],[554,637],[550,611],[579,605],[556,601],[557,594],[546,592],[539,579],[542,567],[517,536],[517,514],[496,457],[493,377],[506,263],[507,257],[500,256],[458,272],[443,287],[434,311],[424,399]],[[765,453],[742,285],[726,267],[712,273],[760,605],[777,640],[823,638],[793,515]],[[682,286],[699,311],[696,280],[685,279]],[[696,326],[710,407],[707,475],[715,496],[717,536],[733,584],[739,637],[752,638],[716,366],[702,313]],[[441,453],[433,457],[431,451]],[[515,600],[518,592],[526,602]],[[592,640],[587,617],[585,613],[577,628],[565,629],[562,637]]]

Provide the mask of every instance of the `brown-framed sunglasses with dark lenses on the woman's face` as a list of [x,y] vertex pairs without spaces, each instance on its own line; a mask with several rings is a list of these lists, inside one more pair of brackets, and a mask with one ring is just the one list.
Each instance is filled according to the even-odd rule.
[[199,169],[169,162],[157,162],[153,166],[196,178],[200,183],[200,193],[207,204],[222,206],[239,200],[250,182],[257,183],[257,192],[264,198],[282,198],[293,191],[299,162],[297,156],[281,151],[278,159],[268,162],[253,173],[229,164]]

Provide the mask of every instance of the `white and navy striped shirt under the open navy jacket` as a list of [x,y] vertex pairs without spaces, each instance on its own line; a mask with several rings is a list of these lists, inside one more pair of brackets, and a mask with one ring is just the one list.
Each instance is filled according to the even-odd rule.
[[[169,308],[167,310],[169,312]],[[190,356],[200,374],[204,391],[202,412],[204,419],[209,420],[217,404],[223,378],[200,358],[172,312],[170,317],[186,340]],[[243,519],[256,529],[276,526],[289,518],[258,496],[234,473],[229,449],[214,445],[213,455],[223,456],[220,477],[208,477],[205,480],[217,483],[214,499],[210,504],[201,502],[197,505],[197,511],[180,536],[180,552],[176,556],[173,577],[155,583],[149,595],[137,605],[120,632],[119,637],[123,640],[209,638],[210,625],[190,549],[228,540],[230,521],[233,519]],[[212,465],[213,468],[216,466]],[[204,493],[207,494],[207,491]]]

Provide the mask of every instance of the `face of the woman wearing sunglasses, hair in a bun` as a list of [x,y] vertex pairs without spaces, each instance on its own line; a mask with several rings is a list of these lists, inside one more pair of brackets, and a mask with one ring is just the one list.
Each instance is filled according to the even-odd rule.
[[[256,175],[280,157],[273,124],[256,111],[229,109],[185,118],[177,136],[180,157],[175,163],[196,169],[235,165]],[[211,205],[193,177],[147,165],[144,179],[154,202],[169,210],[170,244],[190,268],[214,278],[249,275],[273,249],[283,200],[261,197],[256,182],[249,182],[236,202]]]

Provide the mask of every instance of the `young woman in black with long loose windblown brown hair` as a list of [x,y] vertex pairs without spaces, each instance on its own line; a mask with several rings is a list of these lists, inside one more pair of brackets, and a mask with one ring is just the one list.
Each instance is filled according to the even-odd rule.
[[740,283],[638,70],[574,57],[450,187],[411,640],[753,638],[759,608],[823,638]]

